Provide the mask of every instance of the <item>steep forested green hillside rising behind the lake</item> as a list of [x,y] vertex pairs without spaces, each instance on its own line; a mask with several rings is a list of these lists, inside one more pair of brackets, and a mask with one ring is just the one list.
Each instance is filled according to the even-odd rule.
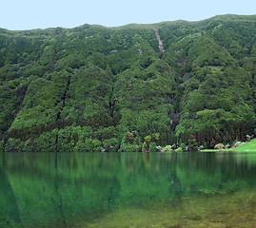
[[2,151],[196,149],[256,135],[256,15],[0,28]]

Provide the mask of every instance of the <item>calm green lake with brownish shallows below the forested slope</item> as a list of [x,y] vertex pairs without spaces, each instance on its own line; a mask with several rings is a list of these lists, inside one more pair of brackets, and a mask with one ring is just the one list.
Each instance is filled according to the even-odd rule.
[[256,154],[2,153],[0,227],[256,227]]

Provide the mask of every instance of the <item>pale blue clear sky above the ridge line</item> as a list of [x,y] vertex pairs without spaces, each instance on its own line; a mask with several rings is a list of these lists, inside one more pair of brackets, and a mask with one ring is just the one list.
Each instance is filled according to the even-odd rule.
[[0,28],[106,27],[256,14],[255,0],[1,0]]

